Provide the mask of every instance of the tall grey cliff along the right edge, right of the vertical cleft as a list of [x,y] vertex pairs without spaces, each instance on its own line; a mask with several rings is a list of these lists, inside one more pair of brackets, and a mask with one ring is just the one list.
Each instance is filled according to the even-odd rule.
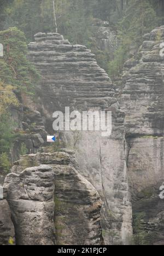
[[[143,212],[148,242],[163,244],[163,203],[159,188],[164,179],[164,62],[160,55],[164,27],[144,36],[141,59],[128,61],[120,104],[126,113],[128,180],[133,214]],[[162,54],[162,51],[161,51]]]

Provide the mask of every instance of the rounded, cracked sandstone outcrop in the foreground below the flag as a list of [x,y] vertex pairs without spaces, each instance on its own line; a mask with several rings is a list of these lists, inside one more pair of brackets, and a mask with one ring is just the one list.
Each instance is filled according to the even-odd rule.
[[16,245],[100,245],[101,200],[67,153],[21,156],[4,187]]

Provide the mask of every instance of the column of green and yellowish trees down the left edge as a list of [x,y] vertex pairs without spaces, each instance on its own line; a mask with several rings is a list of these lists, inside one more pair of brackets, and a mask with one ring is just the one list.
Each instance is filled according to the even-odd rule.
[[[16,27],[0,31],[0,42],[4,48],[4,57],[0,59],[0,165],[2,171],[9,171],[9,153],[17,137],[9,112],[10,108],[19,106],[14,91],[31,94],[39,74],[26,58],[27,43],[23,32]],[[26,150],[21,147],[22,154]]]

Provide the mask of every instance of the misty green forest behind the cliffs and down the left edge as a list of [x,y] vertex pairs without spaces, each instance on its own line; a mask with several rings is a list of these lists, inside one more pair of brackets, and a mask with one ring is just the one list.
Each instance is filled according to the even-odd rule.
[[[0,0],[0,7],[0,43],[4,45],[4,58],[0,59],[0,168],[8,171],[10,148],[17,136],[10,119],[10,108],[19,107],[15,93],[29,91],[39,79],[26,59],[27,44],[37,32],[55,32],[56,26],[52,0]],[[163,0],[55,0],[58,33],[72,44],[90,48],[113,80],[132,57],[131,48],[142,44],[143,34],[164,25],[163,11]],[[93,25],[99,20],[107,21],[117,34],[114,56],[92,40]]]

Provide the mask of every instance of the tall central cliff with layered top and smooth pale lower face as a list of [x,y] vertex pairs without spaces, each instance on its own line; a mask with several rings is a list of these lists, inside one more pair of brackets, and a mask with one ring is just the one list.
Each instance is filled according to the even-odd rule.
[[80,132],[74,143],[71,132],[64,133],[66,146],[75,147],[79,170],[97,189],[103,201],[102,228],[107,244],[128,243],[132,236],[132,210],[127,183],[125,114],[114,97],[113,85],[95,56],[83,45],[71,45],[56,33],[38,33],[30,43],[29,59],[42,74],[37,85],[37,108],[52,132],[56,110],[109,110],[113,114],[112,136],[100,132]]

